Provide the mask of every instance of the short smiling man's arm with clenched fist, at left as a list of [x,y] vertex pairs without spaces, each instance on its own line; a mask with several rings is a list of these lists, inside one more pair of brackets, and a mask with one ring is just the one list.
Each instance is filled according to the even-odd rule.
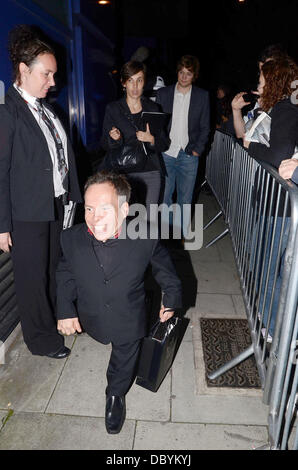
[[64,233],[61,233],[62,256],[56,270],[57,329],[61,333],[69,335],[82,330],[74,304],[77,299],[76,281],[68,261],[67,250],[63,244]]

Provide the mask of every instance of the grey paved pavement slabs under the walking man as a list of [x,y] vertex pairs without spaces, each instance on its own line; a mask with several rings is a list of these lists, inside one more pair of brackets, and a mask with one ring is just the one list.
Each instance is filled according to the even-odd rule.
[[[198,203],[205,221],[218,211],[211,195],[201,193]],[[217,220],[204,232],[204,245],[223,228]],[[200,317],[246,318],[229,236],[177,253],[188,329],[159,390],[132,386],[120,434],[107,434],[104,422],[110,346],[85,333],[68,337],[71,355],[55,360],[32,356],[19,332],[0,366],[1,450],[250,450],[267,444],[262,391],[210,388],[205,380]]]

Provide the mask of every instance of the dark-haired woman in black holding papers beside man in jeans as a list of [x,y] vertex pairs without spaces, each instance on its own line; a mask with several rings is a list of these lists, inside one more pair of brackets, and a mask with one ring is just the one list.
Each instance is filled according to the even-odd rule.
[[[119,149],[136,141],[143,144],[145,155],[139,163],[130,168],[121,168],[132,186],[132,201],[158,204],[161,190],[160,152],[169,145],[169,140],[162,129],[150,129],[144,124],[142,112],[159,112],[157,104],[142,96],[146,79],[145,65],[138,61],[124,64],[121,70],[121,83],[125,95],[106,107],[101,145],[107,151],[104,167],[114,169],[109,159],[110,149]],[[147,154],[147,155],[146,155]]]

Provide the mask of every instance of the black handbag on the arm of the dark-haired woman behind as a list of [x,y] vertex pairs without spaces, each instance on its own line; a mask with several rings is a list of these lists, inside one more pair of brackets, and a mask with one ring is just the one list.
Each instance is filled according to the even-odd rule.
[[[139,129],[133,122],[128,113],[123,113],[130,121],[133,127]],[[136,138],[131,138],[124,142],[120,147],[113,147],[108,151],[108,159],[114,171],[122,172],[126,170],[142,170],[147,161],[147,150],[144,142],[140,142]]]

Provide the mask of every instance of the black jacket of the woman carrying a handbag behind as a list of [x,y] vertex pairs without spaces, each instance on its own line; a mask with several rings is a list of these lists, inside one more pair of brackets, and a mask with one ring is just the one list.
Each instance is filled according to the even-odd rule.
[[[154,101],[142,97],[142,111],[160,111],[160,107],[154,103]],[[113,101],[109,103],[106,107],[104,121],[103,121],[103,130],[101,137],[101,147],[104,150],[109,148],[121,146],[124,142],[131,141],[131,139],[136,139],[136,129],[127,118],[126,114],[130,114],[129,107],[126,103],[126,98],[122,97],[118,101]],[[119,141],[114,141],[109,136],[109,131],[112,127],[117,127],[122,134],[122,138]],[[140,129],[145,130],[145,129]],[[151,146],[150,144],[145,144],[148,153],[150,154],[151,161],[157,170],[163,171],[163,164],[161,162],[160,152],[165,151],[170,145],[170,139],[168,138],[164,129],[160,129],[159,133],[153,132],[155,144]],[[105,161],[105,166],[108,167],[108,161]]]

